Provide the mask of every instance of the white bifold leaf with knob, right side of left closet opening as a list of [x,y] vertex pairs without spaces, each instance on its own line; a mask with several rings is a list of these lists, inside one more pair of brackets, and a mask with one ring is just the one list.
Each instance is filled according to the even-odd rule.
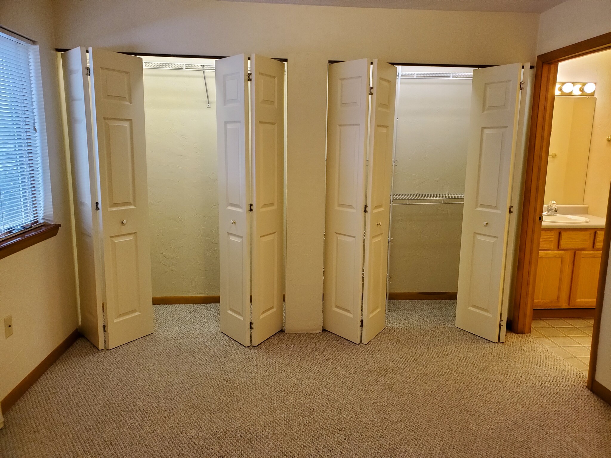
[[251,244],[247,57],[216,61],[221,332],[251,344]]

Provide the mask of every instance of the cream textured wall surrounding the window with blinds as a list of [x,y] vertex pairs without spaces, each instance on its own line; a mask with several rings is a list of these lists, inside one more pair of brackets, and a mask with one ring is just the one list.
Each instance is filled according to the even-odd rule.
[[14,331],[9,338],[0,338],[0,399],[78,326],[52,18],[44,0],[0,2],[2,26],[36,40],[40,49],[53,220],[62,225],[54,238],[0,260],[0,317],[12,315]]

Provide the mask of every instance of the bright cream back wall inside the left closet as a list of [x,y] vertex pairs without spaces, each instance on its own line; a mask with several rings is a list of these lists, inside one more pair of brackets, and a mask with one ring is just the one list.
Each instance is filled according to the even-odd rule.
[[214,72],[206,79],[210,108],[202,72],[144,69],[153,296],[219,294]]

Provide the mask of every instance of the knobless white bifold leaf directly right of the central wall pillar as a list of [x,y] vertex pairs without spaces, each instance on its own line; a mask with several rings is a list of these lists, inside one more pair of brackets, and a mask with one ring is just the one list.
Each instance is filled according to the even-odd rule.
[[369,75],[369,59],[329,65],[323,328],[354,343],[360,343]]

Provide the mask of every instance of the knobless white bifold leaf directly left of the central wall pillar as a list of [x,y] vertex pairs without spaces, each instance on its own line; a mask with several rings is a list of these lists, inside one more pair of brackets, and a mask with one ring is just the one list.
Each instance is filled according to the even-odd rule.
[[282,330],[284,64],[251,57],[252,344]]

